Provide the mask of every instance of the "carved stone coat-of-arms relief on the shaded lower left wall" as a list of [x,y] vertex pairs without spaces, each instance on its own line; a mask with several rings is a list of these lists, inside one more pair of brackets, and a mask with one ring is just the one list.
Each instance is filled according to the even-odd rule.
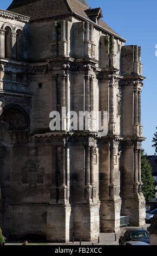
[[29,160],[22,168],[23,184],[43,184],[44,168],[40,168],[39,161]]

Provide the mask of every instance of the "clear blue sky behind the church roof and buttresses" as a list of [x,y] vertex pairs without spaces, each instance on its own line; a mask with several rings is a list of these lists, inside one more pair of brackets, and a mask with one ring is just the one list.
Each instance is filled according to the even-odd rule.
[[[0,8],[6,9],[11,2],[1,1]],[[142,89],[143,136],[147,139],[142,148],[152,155],[152,137],[157,125],[157,1],[88,0],[88,3],[93,8],[102,8],[103,20],[127,39],[126,45],[142,47],[143,76],[147,77]]]

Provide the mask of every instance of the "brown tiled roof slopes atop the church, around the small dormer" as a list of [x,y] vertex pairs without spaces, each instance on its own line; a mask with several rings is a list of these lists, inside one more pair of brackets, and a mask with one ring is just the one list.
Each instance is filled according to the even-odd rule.
[[[7,10],[29,16],[31,20],[76,13],[91,21],[86,13],[89,8],[86,0],[14,0]],[[100,27],[121,38],[102,19],[100,19]]]

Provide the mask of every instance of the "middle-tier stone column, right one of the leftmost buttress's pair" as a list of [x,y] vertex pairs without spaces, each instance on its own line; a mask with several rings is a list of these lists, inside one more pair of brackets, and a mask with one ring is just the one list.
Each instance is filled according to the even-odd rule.
[[62,117],[62,130],[67,130],[66,119],[66,74],[61,75],[61,117]]

